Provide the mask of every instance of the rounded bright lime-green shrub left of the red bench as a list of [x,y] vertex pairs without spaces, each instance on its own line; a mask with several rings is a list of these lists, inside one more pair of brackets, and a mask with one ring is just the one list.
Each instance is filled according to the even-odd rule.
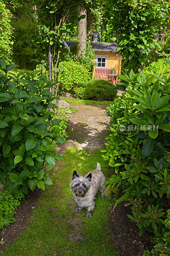
[[88,69],[79,62],[71,60],[62,61],[60,63],[60,68],[64,71],[64,73],[60,73],[60,84],[64,91],[84,86],[91,78]]

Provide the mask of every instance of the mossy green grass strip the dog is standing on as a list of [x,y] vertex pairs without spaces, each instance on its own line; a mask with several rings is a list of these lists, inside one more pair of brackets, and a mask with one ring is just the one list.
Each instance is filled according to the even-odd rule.
[[[33,209],[32,219],[26,231],[15,242],[4,250],[5,256],[118,256],[108,235],[109,201],[96,195],[96,205],[93,216],[85,217],[83,209],[76,224],[76,229],[68,224],[68,220],[75,220],[74,205],[69,183],[74,170],[87,174],[96,169],[96,163],[101,164],[103,173],[110,176],[106,162],[101,157],[100,150],[93,154],[87,150],[68,148],[64,152],[64,160],[56,164],[51,173],[53,186],[46,188],[39,200],[39,207]],[[54,211],[50,209],[53,207]],[[55,211],[56,209],[56,211]],[[82,234],[80,241],[69,241],[70,233],[74,236]],[[72,233],[73,234],[73,233]]]

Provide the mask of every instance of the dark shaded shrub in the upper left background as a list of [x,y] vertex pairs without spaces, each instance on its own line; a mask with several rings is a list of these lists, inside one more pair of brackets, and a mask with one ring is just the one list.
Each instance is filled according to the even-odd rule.
[[32,59],[37,59],[37,46],[27,43],[31,37],[32,21],[28,20],[28,17],[21,16],[17,21],[12,21],[11,26],[15,29],[14,44],[12,45],[13,62],[19,68],[35,69],[37,63]]

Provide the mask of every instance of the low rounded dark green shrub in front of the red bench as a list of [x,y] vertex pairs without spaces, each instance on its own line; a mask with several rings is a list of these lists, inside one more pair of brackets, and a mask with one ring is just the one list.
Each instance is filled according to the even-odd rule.
[[75,88],[75,97],[83,100],[113,100],[117,89],[107,80],[92,79],[85,87]]

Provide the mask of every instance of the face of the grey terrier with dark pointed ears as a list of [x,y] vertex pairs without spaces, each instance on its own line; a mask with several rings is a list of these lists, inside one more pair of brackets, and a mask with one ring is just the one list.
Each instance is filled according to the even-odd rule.
[[91,183],[91,173],[85,177],[80,176],[76,171],[73,172],[73,177],[70,183],[71,191],[75,196],[84,197]]

